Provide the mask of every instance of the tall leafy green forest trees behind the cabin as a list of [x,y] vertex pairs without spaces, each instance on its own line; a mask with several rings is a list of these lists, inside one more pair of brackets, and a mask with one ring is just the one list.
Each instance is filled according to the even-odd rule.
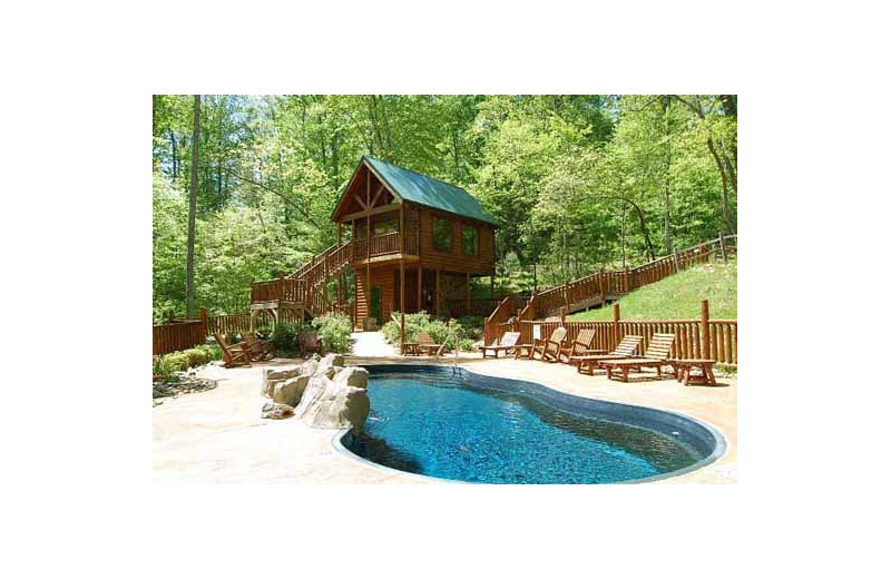
[[[185,314],[192,109],[190,96],[153,97],[158,321]],[[244,311],[252,282],[336,239],[329,216],[363,154],[466,187],[501,222],[499,291],[735,228],[709,150],[735,181],[735,96],[209,95],[202,122],[195,293],[212,315]],[[467,235],[451,243],[470,249]]]

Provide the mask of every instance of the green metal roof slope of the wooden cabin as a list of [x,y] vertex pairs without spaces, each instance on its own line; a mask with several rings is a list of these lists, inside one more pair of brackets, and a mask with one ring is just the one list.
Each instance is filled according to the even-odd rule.
[[396,195],[407,202],[498,225],[495,217],[486,213],[479,202],[461,187],[368,155],[362,158]]

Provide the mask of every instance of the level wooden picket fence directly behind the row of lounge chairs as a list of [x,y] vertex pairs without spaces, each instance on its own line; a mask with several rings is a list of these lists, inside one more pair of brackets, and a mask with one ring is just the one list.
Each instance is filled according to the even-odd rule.
[[[510,324],[505,324],[509,326]],[[539,330],[536,332],[535,327]],[[530,344],[538,334],[540,338],[550,336],[558,326],[567,330],[567,341],[576,338],[579,331],[590,328],[595,332],[594,347],[613,351],[626,335],[644,336],[644,344],[638,352],[643,354],[649,346],[653,334],[675,334],[672,346],[674,357],[705,357],[716,360],[721,364],[736,366],[738,364],[736,320],[711,320],[708,317],[708,300],[703,301],[699,320],[648,320],[626,321],[619,317],[619,305],[613,304],[611,322],[541,322],[522,320],[516,322],[513,330],[520,332],[520,343]]]

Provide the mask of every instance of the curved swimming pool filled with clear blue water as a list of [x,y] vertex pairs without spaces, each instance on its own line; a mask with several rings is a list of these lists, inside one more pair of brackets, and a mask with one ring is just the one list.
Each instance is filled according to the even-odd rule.
[[371,414],[342,446],[404,472],[481,483],[642,482],[724,452],[715,429],[673,412],[463,369],[366,367]]

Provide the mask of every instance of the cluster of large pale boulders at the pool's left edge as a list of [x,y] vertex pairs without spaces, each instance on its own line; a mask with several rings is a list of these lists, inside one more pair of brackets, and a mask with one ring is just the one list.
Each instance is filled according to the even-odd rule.
[[[342,355],[329,354],[323,359],[315,355],[301,365],[267,370],[262,393],[272,398],[273,403],[263,406],[264,418],[267,406],[284,406],[313,428],[350,428],[355,434],[361,432],[371,410],[369,373],[363,367],[343,364]],[[271,408],[270,413],[274,410]]]

